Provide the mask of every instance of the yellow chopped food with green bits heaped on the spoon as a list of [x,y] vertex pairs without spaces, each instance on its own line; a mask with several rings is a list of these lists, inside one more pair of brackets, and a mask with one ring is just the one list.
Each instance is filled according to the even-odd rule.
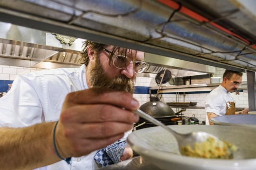
[[195,143],[194,149],[188,145],[181,147],[183,155],[200,158],[231,159],[236,150],[237,146],[234,144],[221,140],[216,141],[213,137],[207,138],[205,142]]

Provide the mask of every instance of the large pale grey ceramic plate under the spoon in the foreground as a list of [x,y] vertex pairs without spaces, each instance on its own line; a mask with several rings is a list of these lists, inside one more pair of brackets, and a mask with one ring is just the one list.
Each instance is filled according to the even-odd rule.
[[136,130],[128,137],[135,152],[163,170],[255,170],[256,128],[241,126],[172,125],[180,133],[204,131],[237,145],[234,159],[206,159],[180,155],[178,144],[161,127]]

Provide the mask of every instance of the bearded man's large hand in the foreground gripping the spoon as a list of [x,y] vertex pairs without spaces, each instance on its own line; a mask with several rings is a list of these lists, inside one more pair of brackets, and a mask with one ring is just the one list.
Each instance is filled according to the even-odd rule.
[[132,112],[138,107],[130,93],[108,88],[69,93],[56,128],[60,155],[84,156],[119,140],[138,121]]

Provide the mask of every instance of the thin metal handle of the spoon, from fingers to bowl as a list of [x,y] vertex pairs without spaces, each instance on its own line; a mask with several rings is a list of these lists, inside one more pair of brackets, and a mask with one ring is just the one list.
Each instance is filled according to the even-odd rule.
[[160,121],[158,121],[157,119],[155,119],[154,117],[150,116],[149,114],[143,112],[140,109],[133,111],[133,113],[139,115],[140,117],[142,117],[143,119],[146,119],[147,121],[150,121],[151,123],[154,123],[157,126],[161,126],[162,128],[165,128],[166,130],[168,130],[175,136],[180,135],[180,134],[176,133],[175,131],[171,130],[170,128],[168,128],[164,123],[161,123]]

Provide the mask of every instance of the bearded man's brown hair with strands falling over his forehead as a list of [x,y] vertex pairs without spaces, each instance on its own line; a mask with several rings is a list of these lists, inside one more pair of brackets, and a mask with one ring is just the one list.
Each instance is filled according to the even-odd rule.
[[[94,50],[95,54],[97,55],[97,54],[99,54],[99,52],[101,50],[103,50],[103,48],[106,48],[109,45],[101,44],[101,43],[97,43],[97,42],[93,42],[93,41],[89,41],[89,40],[84,41],[83,42],[83,50],[80,53],[81,54],[81,58],[79,59],[79,63],[85,64],[86,66],[88,65],[88,63],[90,61],[89,56],[88,56],[88,51],[87,51],[89,46],[91,46],[91,50]],[[111,53],[109,54],[109,64],[110,64],[111,59],[113,58],[113,56],[114,56],[114,54],[116,52],[126,56],[128,51],[130,51],[130,49],[122,49],[122,50],[120,50],[120,47],[113,47]]]

